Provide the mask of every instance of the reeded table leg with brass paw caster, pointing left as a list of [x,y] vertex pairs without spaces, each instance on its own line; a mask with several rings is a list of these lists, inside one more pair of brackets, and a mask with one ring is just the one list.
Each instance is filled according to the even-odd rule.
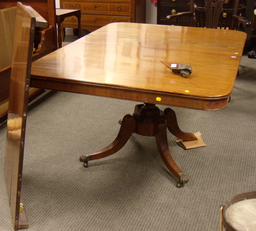
[[119,133],[110,145],[97,152],[80,156],[80,161],[84,162],[84,167],[87,167],[89,160],[104,158],[119,151],[127,143],[132,133],[136,131],[135,126],[135,119],[132,115],[125,115]]

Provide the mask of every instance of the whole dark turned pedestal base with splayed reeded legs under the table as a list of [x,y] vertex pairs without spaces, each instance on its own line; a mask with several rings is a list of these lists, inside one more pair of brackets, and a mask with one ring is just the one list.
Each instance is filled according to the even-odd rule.
[[183,140],[196,140],[192,133],[180,130],[175,112],[171,108],[161,111],[155,104],[144,103],[135,106],[133,115],[125,115],[116,139],[107,147],[100,151],[84,154],[80,161],[84,162],[84,167],[88,167],[89,160],[100,159],[112,155],[119,151],[128,141],[132,133],[142,136],[154,136],[158,152],[169,171],[178,179],[177,187],[188,183],[187,176],[180,170],[168,148],[166,128],[173,135]]

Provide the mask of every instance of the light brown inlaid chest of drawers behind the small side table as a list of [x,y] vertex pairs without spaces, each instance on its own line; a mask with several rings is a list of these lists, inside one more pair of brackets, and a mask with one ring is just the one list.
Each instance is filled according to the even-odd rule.
[[[145,23],[145,0],[60,0],[60,8],[81,9],[81,28],[90,32],[112,22]],[[77,28],[77,18],[66,18],[61,28]]]

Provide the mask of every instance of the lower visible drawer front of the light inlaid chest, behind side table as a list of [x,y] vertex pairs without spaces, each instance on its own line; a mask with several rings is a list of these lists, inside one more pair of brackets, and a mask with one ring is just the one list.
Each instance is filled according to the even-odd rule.
[[[119,16],[100,16],[100,15],[82,15],[81,26],[105,26],[112,22],[132,22],[132,17],[119,17]],[[63,25],[77,26],[77,18],[74,16],[68,17],[64,20]],[[64,27],[65,27],[64,26]]]

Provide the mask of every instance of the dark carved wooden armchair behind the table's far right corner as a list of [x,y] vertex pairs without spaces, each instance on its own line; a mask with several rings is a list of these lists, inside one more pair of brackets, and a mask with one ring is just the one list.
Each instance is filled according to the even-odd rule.
[[227,0],[204,0],[203,6],[199,7],[194,4],[194,0],[190,0],[189,12],[168,15],[166,20],[172,22],[176,19],[176,25],[180,26],[180,20],[187,17],[189,26],[229,30],[243,30],[251,25],[251,22],[243,17],[245,6],[240,0],[234,0],[233,5],[227,9],[224,8],[225,1]]

